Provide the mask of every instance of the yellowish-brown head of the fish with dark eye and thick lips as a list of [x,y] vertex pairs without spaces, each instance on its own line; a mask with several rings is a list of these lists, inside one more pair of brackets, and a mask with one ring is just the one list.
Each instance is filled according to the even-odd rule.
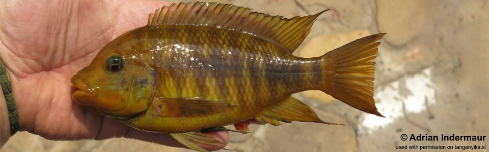
[[104,47],[71,83],[77,88],[72,99],[79,105],[109,118],[127,120],[148,109],[156,73],[142,57]]

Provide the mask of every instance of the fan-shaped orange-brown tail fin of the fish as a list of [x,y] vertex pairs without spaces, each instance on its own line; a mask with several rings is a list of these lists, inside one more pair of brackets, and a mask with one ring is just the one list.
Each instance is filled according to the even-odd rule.
[[375,107],[373,99],[373,75],[377,56],[376,42],[385,33],[363,37],[320,58],[324,61],[324,83],[321,91],[359,110],[384,117]]

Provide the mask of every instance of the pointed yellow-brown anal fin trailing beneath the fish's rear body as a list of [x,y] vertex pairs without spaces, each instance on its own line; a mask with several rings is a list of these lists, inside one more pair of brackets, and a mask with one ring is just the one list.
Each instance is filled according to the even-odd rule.
[[304,104],[294,97],[289,97],[281,103],[263,110],[255,119],[259,122],[263,121],[275,126],[281,125],[280,122],[291,123],[292,121],[344,125],[322,121],[309,105]]

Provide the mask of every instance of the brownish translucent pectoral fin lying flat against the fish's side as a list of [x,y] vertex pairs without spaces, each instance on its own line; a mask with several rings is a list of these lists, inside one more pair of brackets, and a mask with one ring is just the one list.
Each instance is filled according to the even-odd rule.
[[162,108],[166,109],[166,116],[174,117],[213,115],[234,107],[228,102],[206,98],[157,98],[156,102],[165,105]]

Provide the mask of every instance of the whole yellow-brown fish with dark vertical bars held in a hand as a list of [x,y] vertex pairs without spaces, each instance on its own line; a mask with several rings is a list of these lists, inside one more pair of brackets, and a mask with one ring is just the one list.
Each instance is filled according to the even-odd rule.
[[[94,113],[167,133],[197,151],[220,143],[205,131],[324,122],[293,93],[320,90],[384,117],[373,99],[382,36],[365,36],[319,57],[292,55],[316,18],[284,18],[232,4],[187,2],[157,9],[146,26],[105,45],[71,83],[72,99]],[[235,125],[237,130],[223,129]],[[219,147],[224,148],[224,147]]]

